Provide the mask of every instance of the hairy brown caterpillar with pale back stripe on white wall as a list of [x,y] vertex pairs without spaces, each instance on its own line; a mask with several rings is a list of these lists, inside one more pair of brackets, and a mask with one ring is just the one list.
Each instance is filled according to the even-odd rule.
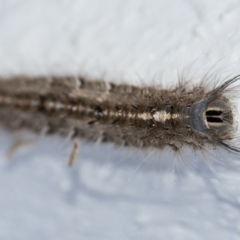
[[203,83],[161,89],[73,76],[1,78],[0,123],[10,130],[47,129],[47,134],[71,133],[72,138],[141,149],[211,145],[239,152],[231,144],[236,125],[227,96],[239,79],[211,89]]

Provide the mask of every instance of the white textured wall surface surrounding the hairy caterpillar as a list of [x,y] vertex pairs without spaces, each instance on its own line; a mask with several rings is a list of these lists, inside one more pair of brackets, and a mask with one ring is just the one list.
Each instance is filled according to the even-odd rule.
[[[1,75],[167,84],[183,69],[239,73],[239,57],[237,0],[0,0]],[[161,166],[168,151],[141,164],[147,153],[81,143],[70,169],[57,137],[7,161],[17,137],[0,135],[0,239],[240,239],[236,156],[211,173],[190,154],[179,174]]]

